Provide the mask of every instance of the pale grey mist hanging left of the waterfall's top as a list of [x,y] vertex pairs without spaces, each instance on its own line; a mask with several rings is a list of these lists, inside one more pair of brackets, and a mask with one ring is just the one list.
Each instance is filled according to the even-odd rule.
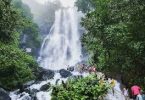
[[41,33],[48,34],[54,23],[55,11],[60,8],[60,3],[52,1],[42,3],[37,0],[22,1],[30,7],[33,19],[40,27]]

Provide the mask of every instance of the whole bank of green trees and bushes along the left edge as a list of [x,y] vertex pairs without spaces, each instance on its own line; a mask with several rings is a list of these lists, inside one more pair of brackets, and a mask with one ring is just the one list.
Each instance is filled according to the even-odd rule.
[[34,78],[37,67],[33,58],[18,48],[19,36],[29,20],[11,2],[0,0],[0,86],[7,89]]

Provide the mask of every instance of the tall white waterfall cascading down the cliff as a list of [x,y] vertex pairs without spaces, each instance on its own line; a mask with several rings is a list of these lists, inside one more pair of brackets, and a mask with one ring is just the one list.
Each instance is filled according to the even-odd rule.
[[54,25],[42,43],[38,59],[40,66],[45,69],[58,70],[81,61],[77,9],[66,0],[60,2],[62,8],[55,12]]

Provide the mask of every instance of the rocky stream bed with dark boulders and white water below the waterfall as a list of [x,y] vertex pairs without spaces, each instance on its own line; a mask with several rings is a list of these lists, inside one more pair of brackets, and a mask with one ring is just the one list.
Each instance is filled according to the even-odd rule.
[[[78,71],[61,69],[58,71],[40,69],[37,80],[32,80],[23,84],[13,92],[6,92],[0,88],[0,100],[51,100],[52,86],[66,82],[68,78],[86,77],[89,73],[79,73]],[[104,74],[97,72],[97,77]],[[109,90],[104,100],[125,100],[120,89],[120,83],[116,81],[115,94]]]

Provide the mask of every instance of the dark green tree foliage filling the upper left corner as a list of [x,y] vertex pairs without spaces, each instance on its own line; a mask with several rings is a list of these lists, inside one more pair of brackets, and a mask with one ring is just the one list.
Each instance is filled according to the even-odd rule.
[[11,0],[0,0],[0,41],[18,44],[16,28],[21,24],[19,12],[11,6]]

